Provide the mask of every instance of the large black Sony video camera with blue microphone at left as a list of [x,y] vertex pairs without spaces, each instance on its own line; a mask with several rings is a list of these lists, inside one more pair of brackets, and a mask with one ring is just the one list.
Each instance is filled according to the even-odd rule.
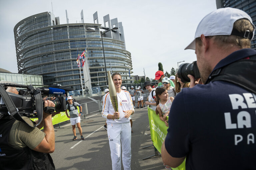
[[[26,88],[19,90],[19,94],[6,92],[7,87]],[[2,83],[0,85],[0,119],[4,116],[11,115],[18,121],[25,122],[21,115],[38,117],[39,125],[43,119],[43,102],[42,96],[48,94],[65,94],[65,90],[57,88],[34,88],[32,85],[19,85],[11,83]],[[66,100],[64,97],[56,97],[53,101],[55,108],[48,107],[46,113],[63,112],[66,109]],[[49,110],[50,108],[50,110]],[[26,123],[26,122],[25,122]],[[29,124],[28,124],[29,125]],[[36,127],[37,125],[34,125]]]

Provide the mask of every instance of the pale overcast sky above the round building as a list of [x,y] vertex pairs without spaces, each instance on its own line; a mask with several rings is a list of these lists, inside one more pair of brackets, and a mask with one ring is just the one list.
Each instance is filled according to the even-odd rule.
[[[52,5],[51,5],[52,4]],[[52,8],[53,7],[53,8]],[[93,23],[98,11],[99,24],[103,16],[122,22],[126,50],[131,52],[133,74],[155,78],[158,62],[164,72],[178,68],[177,62],[196,60],[194,50],[184,48],[193,41],[197,25],[205,15],[216,10],[215,0],[9,0],[0,1],[0,68],[18,73],[14,42],[14,26],[38,13],[52,12],[66,24],[79,23],[83,10],[85,23]],[[103,25],[104,26],[104,25]]]

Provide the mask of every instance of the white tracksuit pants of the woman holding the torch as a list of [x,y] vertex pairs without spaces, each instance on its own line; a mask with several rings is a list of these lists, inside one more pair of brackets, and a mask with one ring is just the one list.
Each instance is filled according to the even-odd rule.
[[108,140],[111,151],[112,169],[121,170],[121,143],[122,162],[124,170],[131,169],[131,123],[108,124]]

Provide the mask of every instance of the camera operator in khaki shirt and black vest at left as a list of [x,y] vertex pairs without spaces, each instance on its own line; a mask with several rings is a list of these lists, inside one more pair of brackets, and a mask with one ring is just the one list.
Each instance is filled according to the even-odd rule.
[[[18,94],[14,87],[8,87],[6,91]],[[54,106],[52,101],[44,101],[44,107]],[[55,149],[54,115],[43,112],[43,121],[36,128],[12,117],[0,119],[0,169],[55,169],[49,154]],[[34,122],[28,117],[22,118],[33,126]],[[40,130],[42,127],[44,131]]]

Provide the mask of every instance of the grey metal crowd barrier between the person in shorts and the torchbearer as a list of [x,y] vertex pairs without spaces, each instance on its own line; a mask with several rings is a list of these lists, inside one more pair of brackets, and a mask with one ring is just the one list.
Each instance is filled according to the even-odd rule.
[[82,115],[89,115],[91,113],[95,113],[95,112],[99,112],[101,113],[101,101],[100,100],[96,100],[96,101],[92,101],[92,102],[87,102],[87,103],[82,103]]

